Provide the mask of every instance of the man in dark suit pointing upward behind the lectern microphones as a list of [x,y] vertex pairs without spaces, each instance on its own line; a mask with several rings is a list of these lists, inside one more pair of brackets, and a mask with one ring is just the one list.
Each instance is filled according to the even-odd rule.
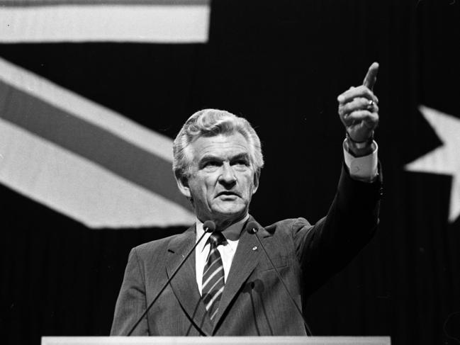
[[[369,241],[381,194],[374,129],[378,64],[362,86],[341,94],[347,131],[345,164],[327,216],[259,227],[258,236],[298,307]],[[195,252],[135,327],[133,335],[305,335],[303,319],[247,224],[264,162],[259,137],[247,120],[226,111],[198,111],[174,140],[174,174],[189,198],[196,224],[183,234],[130,252],[112,335],[126,335],[204,233]],[[254,224],[254,223],[253,223]]]

